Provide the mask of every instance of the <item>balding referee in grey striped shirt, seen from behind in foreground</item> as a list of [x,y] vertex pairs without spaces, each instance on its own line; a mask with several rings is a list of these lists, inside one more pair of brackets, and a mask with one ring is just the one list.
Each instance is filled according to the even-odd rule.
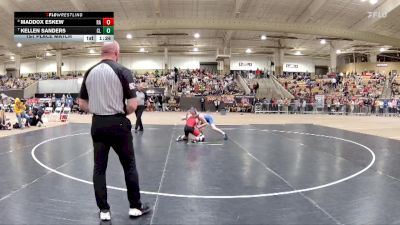
[[93,184],[101,220],[111,220],[106,187],[110,147],[117,153],[124,169],[130,205],[129,216],[138,217],[150,211],[150,207],[140,201],[132,125],[126,118],[126,115],[135,112],[137,108],[134,81],[131,72],[117,63],[119,54],[118,42],[103,45],[102,61],[86,72],[79,99],[81,109],[93,113]]

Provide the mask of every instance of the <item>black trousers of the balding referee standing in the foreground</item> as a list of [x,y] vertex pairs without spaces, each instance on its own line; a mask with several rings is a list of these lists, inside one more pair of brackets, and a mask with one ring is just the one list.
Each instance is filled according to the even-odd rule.
[[117,153],[124,169],[130,208],[140,208],[142,205],[131,129],[131,122],[124,115],[93,116],[91,129],[94,148],[93,185],[100,210],[110,209],[106,187],[110,147]]

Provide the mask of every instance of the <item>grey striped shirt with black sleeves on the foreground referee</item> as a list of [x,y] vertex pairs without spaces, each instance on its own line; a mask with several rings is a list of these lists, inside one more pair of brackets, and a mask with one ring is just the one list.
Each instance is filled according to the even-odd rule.
[[80,98],[95,115],[126,114],[126,99],[136,97],[132,73],[112,60],[102,60],[83,79]]

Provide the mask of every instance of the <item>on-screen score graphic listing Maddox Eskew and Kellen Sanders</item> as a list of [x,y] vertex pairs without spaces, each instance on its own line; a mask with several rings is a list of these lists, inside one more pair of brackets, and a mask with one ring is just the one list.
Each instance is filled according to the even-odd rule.
[[111,42],[114,12],[14,12],[16,42]]

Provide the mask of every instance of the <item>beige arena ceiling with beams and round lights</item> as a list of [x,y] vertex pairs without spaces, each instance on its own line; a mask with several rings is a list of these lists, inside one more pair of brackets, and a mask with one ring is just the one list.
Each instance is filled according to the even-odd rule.
[[[400,48],[400,0],[0,0],[0,62],[46,51],[63,55],[98,52],[100,43],[23,43],[13,40],[14,11],[113,11],[115,39],[123,53],[273,54],[282,48],[329,58],[330,46],[342,52],[391,52]],[[376,12],[370,17],[369,12]],[[379,14],[379,15],[378,15]],[[201,37],[195,39],[194,33]],[[132,34],[132,39],[126,35]],[[163,35],[180,33],[180,35]],[[156,35],[155,35],[156,34]],[[267,40],[261,40],[261,35]],[[319,39],[326,38],[322,45]],[[332,38],[332,41],[330,41]],[[197,47],[199,52],[193,52]]]

